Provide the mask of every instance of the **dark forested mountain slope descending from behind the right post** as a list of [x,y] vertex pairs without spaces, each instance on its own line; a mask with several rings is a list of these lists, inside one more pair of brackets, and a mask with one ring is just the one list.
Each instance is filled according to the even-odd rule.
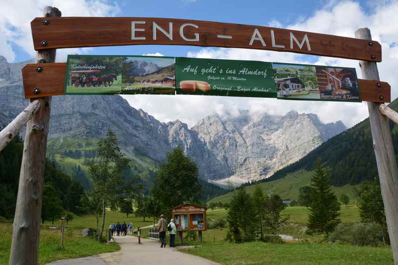
[[[398,99],[394,100],[389,106],[397,111]],[[398,125],[390,121],[390,128],[397,157]],[[311,171],[317,159],[320,159],[323,165],[328,168],[330,181],[334,186],[358,184],[364,180],[373,180],[378,173],[369,118],[330,138],[298,162],[259,182],[279,179],[298,170]]]

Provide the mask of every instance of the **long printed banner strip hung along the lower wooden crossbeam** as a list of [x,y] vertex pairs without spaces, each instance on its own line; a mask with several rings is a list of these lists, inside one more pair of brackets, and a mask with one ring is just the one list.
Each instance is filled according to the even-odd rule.
[[361,102],[355,68],[159,56],[69,55],[65,94],[195,94]]

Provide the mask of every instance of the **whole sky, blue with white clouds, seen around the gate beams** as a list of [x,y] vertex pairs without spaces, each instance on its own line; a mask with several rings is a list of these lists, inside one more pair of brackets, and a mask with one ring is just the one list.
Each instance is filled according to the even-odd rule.
[[[35,55],[29,23],[41,16],[46,5],[58,7],[63,16],[167,17],[275,26],[308,32],[354,37],[369,27],[373,40],[383,49],[378,64],[382,81],[398,96],[398,0],[6,0],[0,8],[0,55],[8,62],[21,62]],[[84,37],[84,36],[82,36]],[[196,58],[256,60],[266,62],[353,67],[361,78],[358,61],[261,51],[194,46],[137,45],[59,49],[57,61],[68,54],[164,55]],[[123,95],[128,103],[160,121],[180,119],[189,126],[212,113],[237,116],[240,109],[252,115],[267,112],[284,115],[290,110],[315,113],[323,122],[342,120],[351,127],[368,116],[366,103],[315,102],[194,95]]]

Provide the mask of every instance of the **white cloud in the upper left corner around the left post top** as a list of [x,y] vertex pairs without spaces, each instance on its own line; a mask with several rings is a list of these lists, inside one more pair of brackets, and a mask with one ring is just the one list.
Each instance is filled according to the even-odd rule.
[[[30,21],[43,15],[45,6],[56,6],[62,16],[114,16],[120,12],[116,3],[107,0],[14,0],[2,3],[0,8],[0,54],[12,62],[15,54],[10,49],[13,43],[32,57],[33,49]],[[2,32],[3,31],[3,32]],[[5,38],[4,38],[5,36]],[[57,61],[65,61],[67,54],[87,53],[90,48],[59,49]]]

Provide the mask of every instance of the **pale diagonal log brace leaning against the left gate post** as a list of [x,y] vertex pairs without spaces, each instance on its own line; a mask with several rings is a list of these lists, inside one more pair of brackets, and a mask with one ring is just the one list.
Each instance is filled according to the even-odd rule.
[[0,131],[0,151],[19,133],[21,128],[39,110],[39,100],[30,103],[18,116],[13,119],[2,131]]

